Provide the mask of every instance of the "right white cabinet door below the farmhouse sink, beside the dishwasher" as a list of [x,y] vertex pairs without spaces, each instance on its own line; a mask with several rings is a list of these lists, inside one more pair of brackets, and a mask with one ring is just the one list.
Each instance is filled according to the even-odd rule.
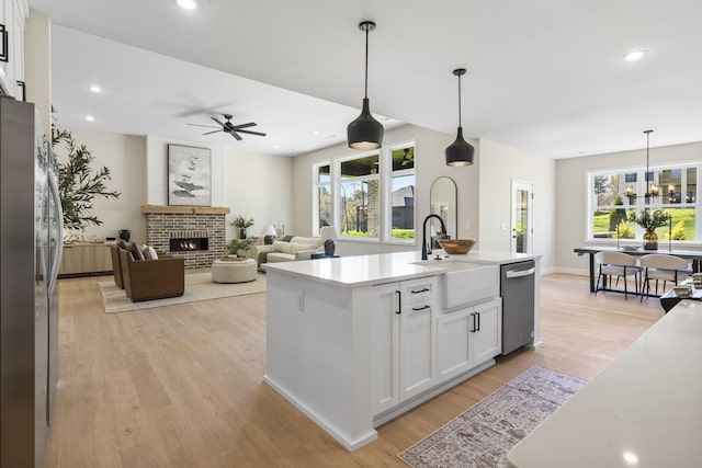
[[475,332],[471,333],[473,365],[477,366],[500,354],[502,349],[502,301],[479,304],[472,311],[477,316]]

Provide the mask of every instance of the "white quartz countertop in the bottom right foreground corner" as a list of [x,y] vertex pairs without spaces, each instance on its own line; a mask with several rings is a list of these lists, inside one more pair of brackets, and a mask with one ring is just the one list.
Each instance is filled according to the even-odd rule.
[[682,300],[523,438],[509,466],[701,467],[701,356],[702,303]]

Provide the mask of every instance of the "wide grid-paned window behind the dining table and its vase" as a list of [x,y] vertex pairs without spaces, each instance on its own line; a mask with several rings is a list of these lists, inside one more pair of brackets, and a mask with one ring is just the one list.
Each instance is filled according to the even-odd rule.
[[700,241],[698,176],[702,164],[592,172],[588,174],[588,239],[641,239],[632,213],[663,209],[672,216],[656,232],[661,240]]

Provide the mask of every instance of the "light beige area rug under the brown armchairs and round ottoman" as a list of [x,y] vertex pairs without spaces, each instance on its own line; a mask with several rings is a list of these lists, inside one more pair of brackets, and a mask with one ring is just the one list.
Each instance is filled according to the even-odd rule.
[[212,282],[210,271],[185,273],[185,294],[180,297],[145,300],[141,303],[133,303],[124,289],[115,286],[114,281],[100,282],[98,284],[102,293],[102,304],[105,307],[105,312],[112,313],[171,306],[173,304],[195,303],[197,300],[217,299],[220,297],[264,293],[265,275],[258,273],[256,281],[249,283],[220,284]]

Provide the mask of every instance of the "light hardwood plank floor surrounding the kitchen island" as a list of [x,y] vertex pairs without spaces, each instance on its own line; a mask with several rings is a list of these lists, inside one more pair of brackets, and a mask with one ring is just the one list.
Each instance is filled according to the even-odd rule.
[[533,365],[592,379],[663,317],[657,299],[542,279],[544,345],[388,422],[348,453],[262,381],[265,295],[104,313],[99,281],[61,279],[59,387],[46,467],[392,467]]

